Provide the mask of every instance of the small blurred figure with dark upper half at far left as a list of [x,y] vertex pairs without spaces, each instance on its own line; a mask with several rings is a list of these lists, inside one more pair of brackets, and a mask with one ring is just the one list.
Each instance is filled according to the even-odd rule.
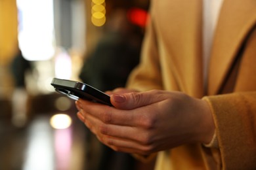
[[28,120],[28,91],[26,89],[26,73],[32,69],[30,61],[22,56],[20,48],[11,63],[11,73],[14,79],[12,93],[12,124],[17,127],[26,125]]

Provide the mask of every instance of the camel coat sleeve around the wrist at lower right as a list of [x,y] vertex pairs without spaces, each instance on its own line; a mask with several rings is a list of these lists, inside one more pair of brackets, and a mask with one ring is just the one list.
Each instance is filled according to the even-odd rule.
[[256,92],[204,97],[213,113],[223,169],[256,166]]

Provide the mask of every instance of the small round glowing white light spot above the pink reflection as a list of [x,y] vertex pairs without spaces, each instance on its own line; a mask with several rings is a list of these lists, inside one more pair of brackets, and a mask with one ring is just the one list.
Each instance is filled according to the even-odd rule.
[[55,114],[51,117],[50,124],[54,129],[66,129],[71,126],[72,119],[68,114]]

